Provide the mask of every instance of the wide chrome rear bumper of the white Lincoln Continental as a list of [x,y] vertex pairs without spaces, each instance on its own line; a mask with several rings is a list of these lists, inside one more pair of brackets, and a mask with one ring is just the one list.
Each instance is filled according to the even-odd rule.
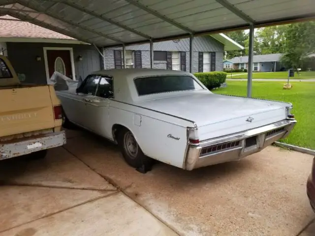
[[295,123],[296,120],[285,119],[241,133],[205,140],[197,145],[188,144],[184,169],[190,171],[203,166],[239,160],[285,138]]

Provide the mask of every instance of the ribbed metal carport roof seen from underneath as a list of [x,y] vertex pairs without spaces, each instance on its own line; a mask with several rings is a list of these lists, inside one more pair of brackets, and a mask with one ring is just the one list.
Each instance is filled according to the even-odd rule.
[[0,15],[97,46],[315,18],[314,0],[0,0]]

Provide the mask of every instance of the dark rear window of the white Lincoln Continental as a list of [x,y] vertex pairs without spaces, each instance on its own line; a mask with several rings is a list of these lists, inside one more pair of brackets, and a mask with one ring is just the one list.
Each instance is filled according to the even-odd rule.
[[202,90],[203,88],[187,75],[163,75],[136,78],[134,80],[139,96],[161,92]]

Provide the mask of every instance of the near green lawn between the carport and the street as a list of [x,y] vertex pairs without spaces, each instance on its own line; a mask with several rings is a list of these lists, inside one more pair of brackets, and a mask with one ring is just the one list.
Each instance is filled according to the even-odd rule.
[[[253,81],[252,96],[291,102],[297,124],[284,143],[315,149],[315,83],[292,82],[292,89],[284,90],[283,82]],[[227,87],[216,89],[220,94],[246,96],[246,81],[227,81]]]

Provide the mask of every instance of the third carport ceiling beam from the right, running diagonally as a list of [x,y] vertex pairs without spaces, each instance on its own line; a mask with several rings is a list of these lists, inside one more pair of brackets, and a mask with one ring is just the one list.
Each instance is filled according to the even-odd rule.
[[74,3],[72,1],[65,1],[65,0],[51,0],[51,1],[56,1],[58,3],[63,3],[65,5],[71,6],[71,7],[75,8],[75,9],[77,9],[79,11],[82,11],[84,13],[87,13],[87,14],[91,15],[91,16],[94,16],[95,18],[98,18],[98,19],[100,19],[102,21],[106,21],[106,22],[108,22],[108,23],[110,23],[112,25],[115,25],[117,27],[125,29],[125,30],[127,30],[129,32],[137,34],[137,35],[139,35],[141,37],[144,37],[146,39],[151,39],[151,37],[149,35],[145,34],[145,33],[139,32],[138,30],[132,29],[132,28],[127,27],[127,26],[125,26],[123,24],[120,24],[120,23],[118,23],[116,21],[113,21],[113,20],[111,20],[111,19],[109,19],[109,18],[107,18],[105,16],[102,16],[102,15],[100,15],[100,14],[94,12],[94,11],[88,10],[87,8],[84,8],[84,7]]

